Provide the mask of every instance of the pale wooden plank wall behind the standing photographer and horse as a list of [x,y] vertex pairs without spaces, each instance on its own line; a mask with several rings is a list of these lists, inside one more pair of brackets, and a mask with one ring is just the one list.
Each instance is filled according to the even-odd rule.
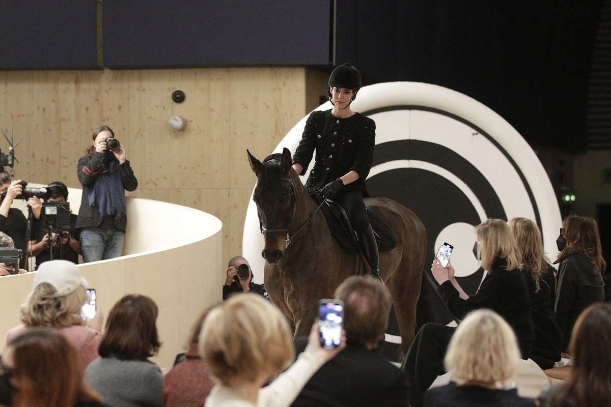
[[[299,67],[0,71],[0,129],[21,140],[16,177],[79,187],[76,163],[93,129],[108,124],[139,181],[130,195],[219,217],[227,261],[241,253],[254,185],[246,148],[265,157],[318,106],[325,77]],[[172,115],[187,120],[184,131],[168,128]]]

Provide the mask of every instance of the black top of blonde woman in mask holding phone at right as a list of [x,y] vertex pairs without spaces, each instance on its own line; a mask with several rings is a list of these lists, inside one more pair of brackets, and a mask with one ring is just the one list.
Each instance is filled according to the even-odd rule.
[[463,319],[474,309],[488,308],[502,316],[518,337],[522,356],[530,355],[530,346],[535,338],[535,326],[530,314],[529,285],[526,275],[519,269],[505,270],[501,260],[481,283],[480,289],[463,300],[450,281],[439,287],[439,294],[448,311],[457,319]]

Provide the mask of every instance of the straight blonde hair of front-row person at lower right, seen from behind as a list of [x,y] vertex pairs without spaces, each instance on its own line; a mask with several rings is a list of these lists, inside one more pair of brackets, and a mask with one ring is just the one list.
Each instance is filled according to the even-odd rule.
[[501,387],[514,378],[520,351],[511,326],[499,314],[478,309],[458,325],[445,353],[445,369],[457,383]]

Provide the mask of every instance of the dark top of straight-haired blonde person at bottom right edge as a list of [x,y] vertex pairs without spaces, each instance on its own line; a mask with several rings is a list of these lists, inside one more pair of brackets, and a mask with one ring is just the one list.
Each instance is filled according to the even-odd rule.
[[530,398],[520,397],[518,389],[491,390],[477,386],[457,386],[450,382],[424,395],[424,407],[535,407]]

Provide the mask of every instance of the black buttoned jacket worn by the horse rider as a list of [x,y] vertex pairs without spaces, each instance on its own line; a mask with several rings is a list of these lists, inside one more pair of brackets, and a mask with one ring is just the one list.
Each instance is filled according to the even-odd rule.
[[312,112],[305,122],[293,164],[301,164],[303,171],[299,175],[304,175],[316,151],[314,168],[305,183],[308,190],[320,189],[349,171],[356,171],[359,179],[343,190],[362,190],[373,161],[375,137],[375,121],[360,113],[339,118],[331,110]]

